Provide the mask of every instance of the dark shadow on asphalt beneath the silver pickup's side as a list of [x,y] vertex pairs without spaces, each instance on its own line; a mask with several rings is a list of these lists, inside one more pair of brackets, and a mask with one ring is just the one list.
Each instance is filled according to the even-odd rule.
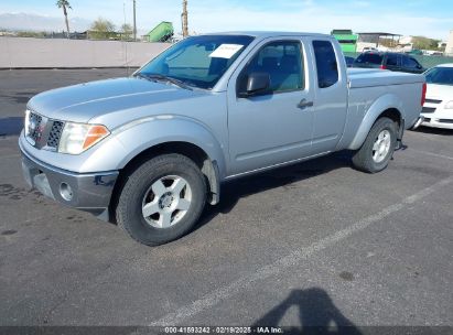
[[245,176],[222,185],[220,203],[206,206],[195,229],[209,223],[219,214],[229,213],[240,198],[277,187],[293,187],[292,184],[341,168],[349,168],[352,153],[341,151],[315,160]]

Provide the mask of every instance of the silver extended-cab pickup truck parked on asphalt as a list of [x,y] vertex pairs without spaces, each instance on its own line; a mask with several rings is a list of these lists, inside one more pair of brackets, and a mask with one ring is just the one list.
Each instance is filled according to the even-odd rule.
[[193,36],[131,77],[33,97],[22,168],[44,195],[159,245],[190,231],[229,180],[338,150],[384,170],[424,93],[422,75],[347,72],[330,35]]

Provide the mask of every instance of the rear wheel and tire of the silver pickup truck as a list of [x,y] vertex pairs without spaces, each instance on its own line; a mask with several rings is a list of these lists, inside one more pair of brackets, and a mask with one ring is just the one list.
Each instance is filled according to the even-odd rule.
[[364,144],[353,155],[353,165],[360,171],[376,173],[387,168],[397,145],[397,125],[379,118],[373,125]]

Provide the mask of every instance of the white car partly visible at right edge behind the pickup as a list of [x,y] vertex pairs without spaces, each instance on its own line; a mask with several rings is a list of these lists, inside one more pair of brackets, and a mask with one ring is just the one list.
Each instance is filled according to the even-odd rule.
[[453,129],[453,63],[430,68],[422,126]]

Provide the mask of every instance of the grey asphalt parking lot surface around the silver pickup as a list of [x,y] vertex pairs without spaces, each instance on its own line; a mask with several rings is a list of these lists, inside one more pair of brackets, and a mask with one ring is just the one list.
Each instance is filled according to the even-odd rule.
[[0,325],[453,326],[452,131],[407,132],[375,175],[339,153],[224,185],[149,248],[20,171],[32,95],[123,74],[0,72]]

